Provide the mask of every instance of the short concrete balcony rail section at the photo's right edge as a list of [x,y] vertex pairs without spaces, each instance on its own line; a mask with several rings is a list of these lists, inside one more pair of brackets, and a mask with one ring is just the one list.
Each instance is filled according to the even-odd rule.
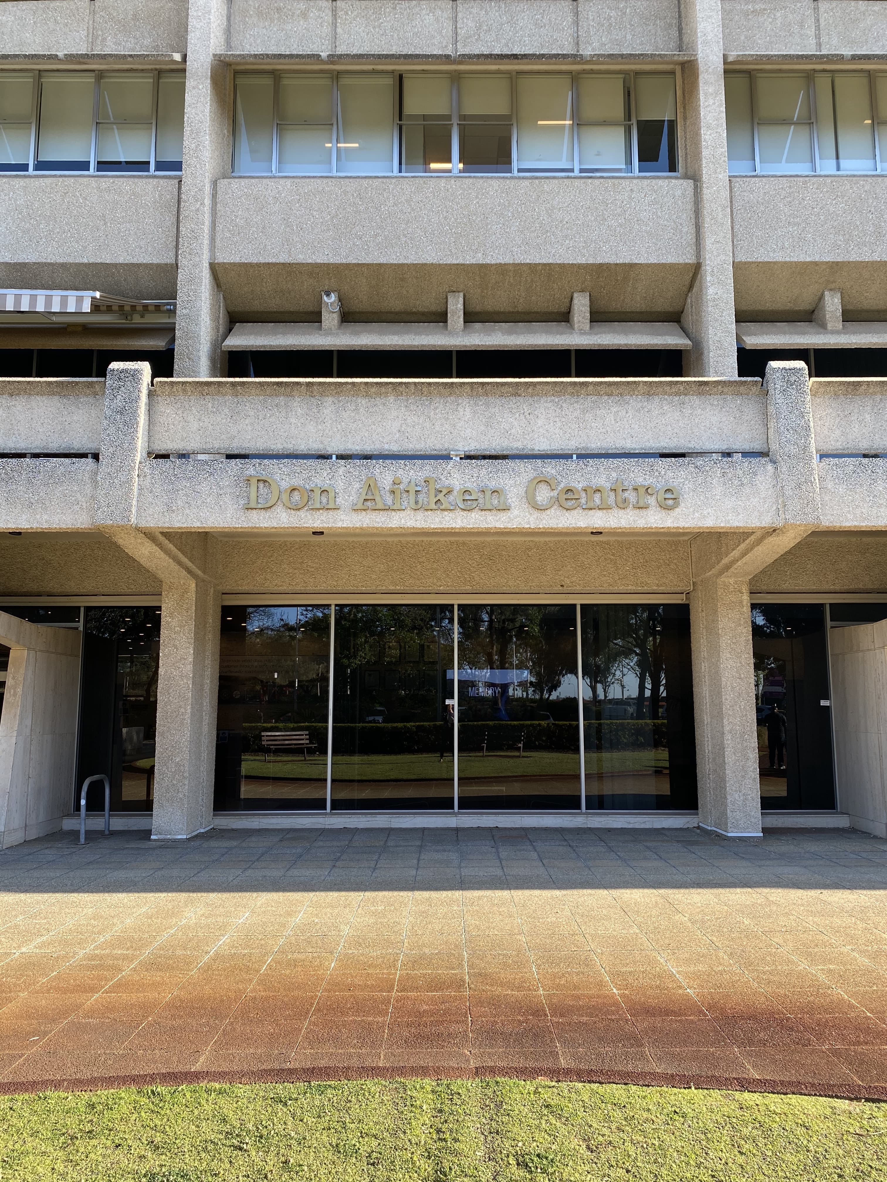
[[810,402],[818,453],[887,452],[887,378],[814,378]]

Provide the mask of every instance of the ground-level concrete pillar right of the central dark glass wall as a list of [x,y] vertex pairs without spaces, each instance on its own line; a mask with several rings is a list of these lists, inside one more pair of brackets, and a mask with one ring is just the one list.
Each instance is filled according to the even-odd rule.
[[704,578],[689,597],[699,824],[760,837],[749,584]]

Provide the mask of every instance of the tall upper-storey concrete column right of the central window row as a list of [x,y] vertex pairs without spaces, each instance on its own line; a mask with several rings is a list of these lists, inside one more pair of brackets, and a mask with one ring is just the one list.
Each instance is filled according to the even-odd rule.
[[736,377],[733,232],[724,110],[720,0],[680,0],[681,43],[695,60],[681,66],[681,169],[697,182],[699,265],[681,317],[693,349],[686,377]]

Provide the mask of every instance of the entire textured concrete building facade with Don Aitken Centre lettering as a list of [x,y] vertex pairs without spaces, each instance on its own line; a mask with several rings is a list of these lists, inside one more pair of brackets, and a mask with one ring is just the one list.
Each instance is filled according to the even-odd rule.
[[1,0],[4,844],[887,836],[885,186],[887,0]]

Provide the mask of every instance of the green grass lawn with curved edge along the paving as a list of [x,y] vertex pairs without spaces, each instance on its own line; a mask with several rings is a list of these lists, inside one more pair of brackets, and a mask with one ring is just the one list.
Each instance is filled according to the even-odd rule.
[[15,1182],[887,1178],[887,1105],[519,1080],[0,1098]]

